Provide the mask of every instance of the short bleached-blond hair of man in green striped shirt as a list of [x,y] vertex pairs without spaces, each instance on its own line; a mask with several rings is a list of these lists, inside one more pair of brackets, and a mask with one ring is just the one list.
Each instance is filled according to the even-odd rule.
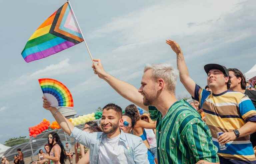
[[152,69],[152,76],[157,80],[159,78],[164,79],[167,89],[172,93],[175,93],[177,77],[179,71],[167,63],[161,64],[147,64],[144,68],[144,73]]

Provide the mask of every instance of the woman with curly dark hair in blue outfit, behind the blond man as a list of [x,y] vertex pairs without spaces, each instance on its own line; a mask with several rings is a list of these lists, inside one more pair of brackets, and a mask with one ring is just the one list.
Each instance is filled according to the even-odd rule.
[[147,134],[144,128],[146,129],[155,129],[156,124],[155,123],[149,123],[144,120],[140,120],[140,114],[137,109],[137,107],[134,104],[128,105],[125,108],[125,113],[126,115],[129,115],[130,118],[132,119],[132,134],[141,137],[143,143],[146,145],[148,148],[148,161],[150,164],[155,164],[155,157],[153,153],[150,150],[149,142],[147,140]]

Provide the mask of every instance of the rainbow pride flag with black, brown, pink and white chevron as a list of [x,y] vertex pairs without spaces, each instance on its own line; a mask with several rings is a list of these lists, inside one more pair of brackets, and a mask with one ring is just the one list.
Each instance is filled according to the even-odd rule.
[[28,63],[84,41],[69,3],[55,11],[29,38],[21,55]]

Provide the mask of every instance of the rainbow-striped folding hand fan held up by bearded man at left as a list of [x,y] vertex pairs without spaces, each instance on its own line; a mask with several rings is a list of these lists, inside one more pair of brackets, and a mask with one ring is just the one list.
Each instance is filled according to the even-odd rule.
[[68,88],[61,82],[44,78],[38,79],[45,98],[53,107],[73,109],[73,98]]

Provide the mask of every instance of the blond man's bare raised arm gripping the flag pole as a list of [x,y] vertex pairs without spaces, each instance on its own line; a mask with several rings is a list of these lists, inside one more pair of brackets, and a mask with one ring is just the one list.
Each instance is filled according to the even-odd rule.
[[148,111],[148,107],[143,105],[143,96],[138,92],[137,88],[105,72],[100,59],[93,59],[93,61],[93,71],[99,78],[105,80],[122,97]]

